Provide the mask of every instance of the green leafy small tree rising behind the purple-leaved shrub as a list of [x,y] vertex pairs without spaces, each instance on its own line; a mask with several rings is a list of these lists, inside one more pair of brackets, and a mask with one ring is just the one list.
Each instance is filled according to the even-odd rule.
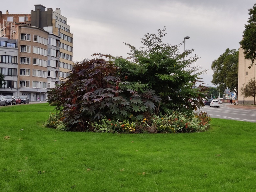
[[[186,50],[180,54],[179,45],[165,44],[162,38],[166,35],[165,27],[158,30],[158,35],[147,33],[142,40],[143,47],[137,49],[125,43],[131,50],[129,58],[117,59],[116,65],[120,67],[123,77],[129,82],[140,81],[149,89],[155,90],[162,99],[158,108],[165,110],[196,109],[203,105],[206,87],[199,76],[206,71],[195,72],[193,63],[198,57],[187,58],[194,50]],[[186,68],[187,70],[183,70]],[[195,74],[194,74],[195,73]],[[202,85],[194,87],[196,82]]]

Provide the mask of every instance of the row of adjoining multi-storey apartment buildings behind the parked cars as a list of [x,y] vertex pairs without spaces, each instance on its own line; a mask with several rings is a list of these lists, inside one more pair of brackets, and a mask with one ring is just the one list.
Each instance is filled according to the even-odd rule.
[[73,62],[73,34],[60,9],[35,5],[31,14],[0,11],[0,95],[26,95],[45,101],[47,91],[64,82]]

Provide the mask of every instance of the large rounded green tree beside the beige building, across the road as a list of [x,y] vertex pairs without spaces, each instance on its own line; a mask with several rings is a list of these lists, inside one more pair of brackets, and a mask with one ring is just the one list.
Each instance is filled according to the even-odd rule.
[[[239,50],[229,49],[212,62],[213,76],[211,82],[219,85],[223,93],[228,87],[237,94],[238,91],[238,54]],[[238,94],[237,94],[238,95]]]

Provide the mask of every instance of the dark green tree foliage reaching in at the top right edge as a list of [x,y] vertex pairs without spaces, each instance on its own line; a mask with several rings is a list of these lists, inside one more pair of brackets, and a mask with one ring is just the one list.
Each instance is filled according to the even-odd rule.
[[245,30],[243,31],[243,39],[240,41],[241,48],[244,50],[244,58],[251,60],[249,69],[253,66],[253,62],[256,59],[256,4],[249,10],[248,24],[245,24]]

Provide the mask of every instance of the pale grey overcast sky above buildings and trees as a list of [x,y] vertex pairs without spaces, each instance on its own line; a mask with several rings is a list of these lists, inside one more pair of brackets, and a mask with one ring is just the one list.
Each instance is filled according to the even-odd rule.
[[[157,34],[166,27],[163,41],[185,49],[194,49],[200,59],[196,65],[208,69],[202,78],[212,86],[211,64],[227,48],[238,49],[248,9],[255,0],[12,0],[1,1],[0,11],[28,14],[34,5],[60,8],[74,34],[73,61],[91,59],[94,53],[127,57],[129,48],[139,48],[146,33]],[[180,47],[183,52],[183,46]]]

